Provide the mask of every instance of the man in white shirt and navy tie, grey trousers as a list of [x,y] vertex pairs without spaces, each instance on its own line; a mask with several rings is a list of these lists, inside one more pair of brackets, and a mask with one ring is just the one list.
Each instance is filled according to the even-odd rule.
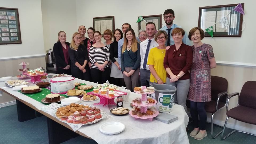
[[157,42],[155,41],[155,23],[148,22],[146,24],[146,34],[147,34],[147,39],[140,43],[140,54],[141,54],[140,78],[141,78],[141,86],[149,87],[150,70],[149,70],[149,65],[147,65],[147,59],[149,56],[150,49],[158,46]]

